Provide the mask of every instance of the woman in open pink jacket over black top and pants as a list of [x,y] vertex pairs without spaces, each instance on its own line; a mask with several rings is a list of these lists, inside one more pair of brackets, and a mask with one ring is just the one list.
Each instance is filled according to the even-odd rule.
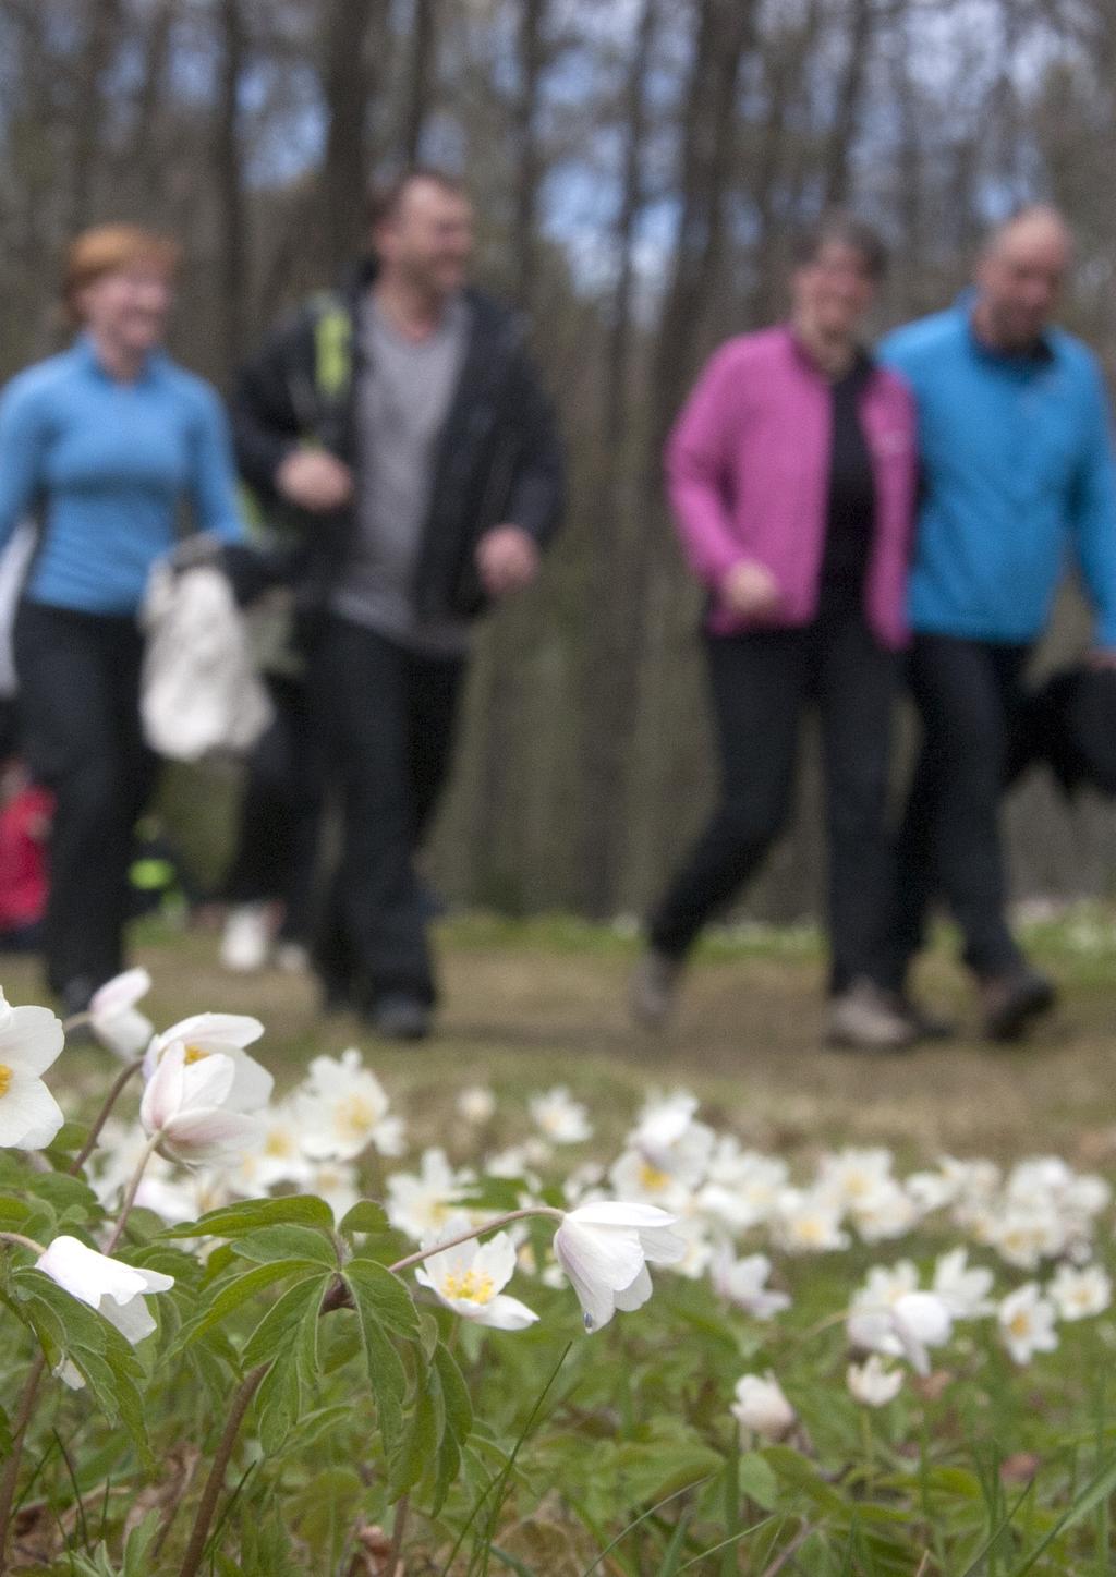
[[916,490],[914,407],[862,349],[878,238],[831,214],[802,240],[788,323],[730,339],[667,446],[667,483],[709,591],[706,656],[720,800],[649,921],[634,982],[645,1023],[668,1014],[706,919],[755,872],[791,807],[807,702],[826,771],[832,938],[829,1038],[914,1038],[883,989],[891,858],[891,718]]

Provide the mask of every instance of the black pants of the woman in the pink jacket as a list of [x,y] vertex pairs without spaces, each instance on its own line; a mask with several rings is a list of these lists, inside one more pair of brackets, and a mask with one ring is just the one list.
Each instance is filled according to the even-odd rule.
[[651,945],[681,957],[752,877],[791,809],[802,711],[817,699],[829,831],[831,989],[878,978],[889,915],[887,768],[895,658],[857,610],[801,631],[708,637],[720,803],[656,908]]

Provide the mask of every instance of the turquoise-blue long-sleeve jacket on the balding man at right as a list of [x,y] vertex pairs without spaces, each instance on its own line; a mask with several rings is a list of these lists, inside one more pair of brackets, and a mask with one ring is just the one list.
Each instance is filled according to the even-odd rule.
[[1028,643],[1075,557],[1097,645],[1116,648],[1116,464],[1092,353],[1051,330],[1031,356],[999,355],[962,298],[897,330],[880,355],[917,402],[911,628]]

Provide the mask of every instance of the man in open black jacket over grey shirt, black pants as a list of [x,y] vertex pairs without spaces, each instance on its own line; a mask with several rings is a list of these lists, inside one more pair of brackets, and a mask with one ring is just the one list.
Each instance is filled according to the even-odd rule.
[[374,262],[265,344],[233,401],[246,481],[293,514],[314,710],[344,841],[318,968],[392,1038],[435,998],[415,850],[446,779],[468,624],[534,579],[563,459],[519,320],[465,284],[438,172],[374,205]]

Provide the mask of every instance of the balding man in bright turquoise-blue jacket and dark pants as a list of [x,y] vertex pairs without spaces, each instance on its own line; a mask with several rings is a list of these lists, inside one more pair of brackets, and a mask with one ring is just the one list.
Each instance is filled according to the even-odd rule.
[[1070,259],[1061,216],[1028,208],[988,240],[973,292],[881,350],[914,391],[922,454],[910,672],[924,744],[900,834],[894,986],[941,894],[993,1039],[1017,1038],[1055,998],[1007,927],[999,800],[1023,672],[1067,558],[1096,609],[1092,661],[1116,662],[1108,404],[1092,353],[1050,323]]

